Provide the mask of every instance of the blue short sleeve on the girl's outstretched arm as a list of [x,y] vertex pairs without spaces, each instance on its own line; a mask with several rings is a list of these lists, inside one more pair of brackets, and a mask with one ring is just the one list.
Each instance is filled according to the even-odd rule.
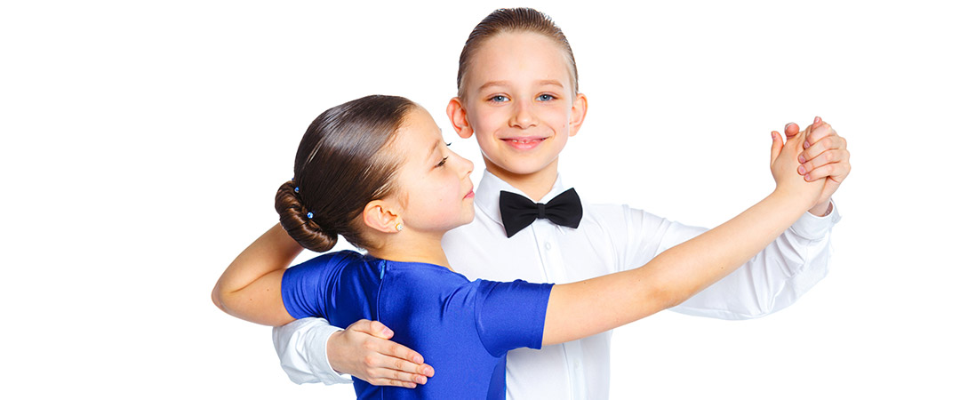
[[519,347],[539,349],[553,284],[522,280],[479,282],[477,332],[487,351],[500,357]]

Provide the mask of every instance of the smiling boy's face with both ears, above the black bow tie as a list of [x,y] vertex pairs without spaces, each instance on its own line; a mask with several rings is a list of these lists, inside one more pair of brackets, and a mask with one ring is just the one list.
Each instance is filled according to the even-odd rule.
[[449,107],[448,114],[460,136],[476,133],[494,175],[555,178],[566,139],[587,110],[586,98],[573,93],[567,62],[560,46],[534,33],[493,36],[474,54],[466,99],[451,101],[463,118]]

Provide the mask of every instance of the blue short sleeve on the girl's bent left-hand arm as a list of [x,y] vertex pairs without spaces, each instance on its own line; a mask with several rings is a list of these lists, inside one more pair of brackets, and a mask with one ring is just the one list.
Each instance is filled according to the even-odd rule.
[[346,264],[343,252],[314,257],[283,272],[280,294],[293,318],[326,318],[330,282],[336,281]]

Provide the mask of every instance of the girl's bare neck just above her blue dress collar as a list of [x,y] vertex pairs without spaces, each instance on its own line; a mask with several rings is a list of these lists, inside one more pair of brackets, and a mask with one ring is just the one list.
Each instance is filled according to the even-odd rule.
[[404,263],[435,264],[450,268],[446,260],[444,249],[440,247],[443,235],[422,234],[411,230],[404,230],[389,235],[384,244],[377,248],[368,248],[367,252],[373,257]]

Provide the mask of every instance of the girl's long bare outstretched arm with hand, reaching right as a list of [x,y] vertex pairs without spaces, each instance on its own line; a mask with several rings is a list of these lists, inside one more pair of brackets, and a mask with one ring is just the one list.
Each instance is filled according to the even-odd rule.
[[805,137],[804,131],[784,145],[775,134],[771,170],[777,189],[727,223],[663,251],[642,268],[554,286],[542,344],[585,338],[678,305],[770,244],[824,187],[823,179],[806,182],[796,173]]

